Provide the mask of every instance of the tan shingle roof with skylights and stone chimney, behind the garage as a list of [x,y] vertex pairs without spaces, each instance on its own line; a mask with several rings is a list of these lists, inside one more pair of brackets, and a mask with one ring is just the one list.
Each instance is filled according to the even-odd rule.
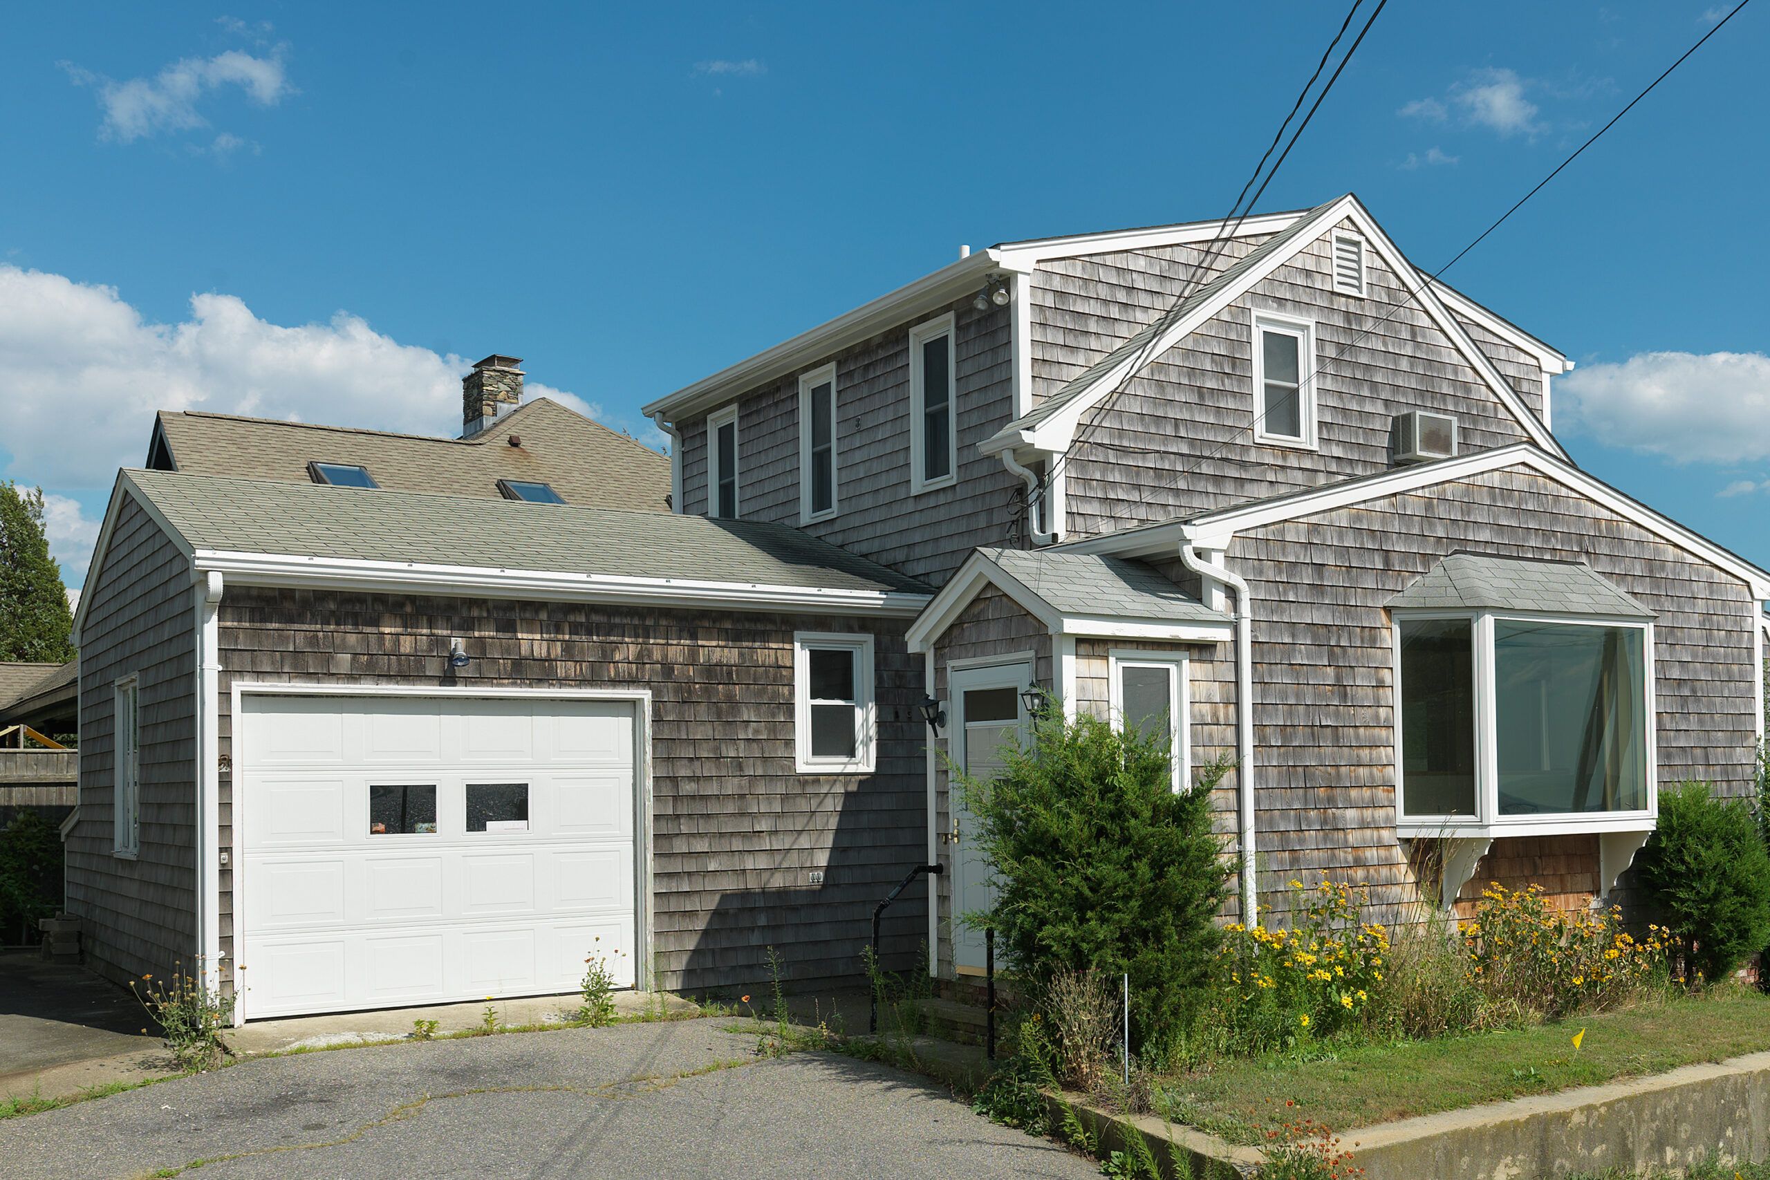
[[[156,430],[181,474],[312,483],[310,462],[350,464],[366,467],[389,492],[501,499],[499,479],[524,479],[550,483],[579,508],[669,511],[669,458],[547,398],[471,439],[196,410],[163,410]],[[512,446],[512,437],[522,446]]]

